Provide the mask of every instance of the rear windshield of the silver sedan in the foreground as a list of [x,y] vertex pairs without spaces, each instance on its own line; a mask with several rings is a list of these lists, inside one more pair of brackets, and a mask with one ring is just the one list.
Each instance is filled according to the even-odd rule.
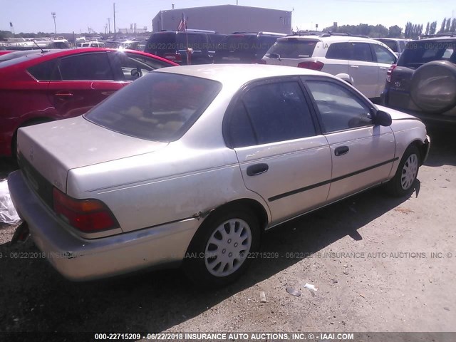
[[135,138],[175,141],[196,122],[221,88],[220,83],[204,78],[152,72],[84,117]]

